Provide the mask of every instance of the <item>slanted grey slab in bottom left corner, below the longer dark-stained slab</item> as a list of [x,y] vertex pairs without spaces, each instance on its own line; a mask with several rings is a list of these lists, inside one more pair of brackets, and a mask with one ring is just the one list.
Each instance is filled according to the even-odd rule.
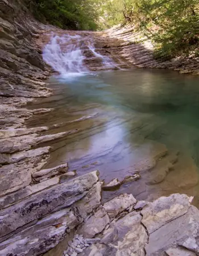
[[0,255],[40,255],[55,247],[67,236],[66,230],[73,229],[78,224],[80,221],[71,208],[49,214],[1,242]]

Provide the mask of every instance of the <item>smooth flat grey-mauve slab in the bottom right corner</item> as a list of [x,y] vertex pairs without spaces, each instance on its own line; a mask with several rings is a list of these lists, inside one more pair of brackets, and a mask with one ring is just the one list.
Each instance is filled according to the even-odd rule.
[[[177,253],[180,251],[180,256],[198,255],[198,233],[198,209],[191,205],[185,214],[176,217],[175,220],[168,222],[150,234],[146,246],[147,256],[164,255],[165,251],[168,255],[178,255]],[[181,248],[185,250],[182,252]],[[171,254],[172,251],[175,254]],[[185,252],[186,254],[183,254]]]

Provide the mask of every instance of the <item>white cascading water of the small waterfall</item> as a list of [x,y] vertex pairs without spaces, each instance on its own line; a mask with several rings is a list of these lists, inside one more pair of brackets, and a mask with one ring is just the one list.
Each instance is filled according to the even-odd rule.
[[89,72],[84,64],[85,49],[89,49],[94,57],[101,59],[103,67],[117,67],[109,57],[96,52],[90,36],[52,35],[50,42],[43,49],[43,59],[61,76],[82,75]]

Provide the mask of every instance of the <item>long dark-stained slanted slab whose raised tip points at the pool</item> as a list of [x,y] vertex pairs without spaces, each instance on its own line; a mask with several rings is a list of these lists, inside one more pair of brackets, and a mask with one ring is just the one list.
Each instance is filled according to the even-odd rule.
[[98,171],[90,172],[90,174],[56,185],[39,195],[31,196],[21,203],[2,210],[0,212],[0,236],[3,237],[45,214],[69,207],[84,197],[97,181]]

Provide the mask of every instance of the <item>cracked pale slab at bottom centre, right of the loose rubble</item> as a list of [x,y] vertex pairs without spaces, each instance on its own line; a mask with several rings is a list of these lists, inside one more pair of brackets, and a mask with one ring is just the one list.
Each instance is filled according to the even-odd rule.
[[131,212],[113,222],[103,232],[101,242],[88,247],[80,255],[145,255],[144,246],[148,236],[141,220],[142,216],[138,212]]

